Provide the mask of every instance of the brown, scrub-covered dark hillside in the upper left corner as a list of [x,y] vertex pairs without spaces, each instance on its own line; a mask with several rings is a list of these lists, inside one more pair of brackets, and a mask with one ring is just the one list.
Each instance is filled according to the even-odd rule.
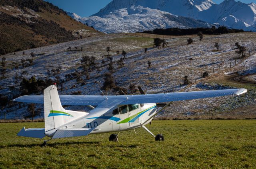
[[0,55],[97,34],[43,0],[0,0]]

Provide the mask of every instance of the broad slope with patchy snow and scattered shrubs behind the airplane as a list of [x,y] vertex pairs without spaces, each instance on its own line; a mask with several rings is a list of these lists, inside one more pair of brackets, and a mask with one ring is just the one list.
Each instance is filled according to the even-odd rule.
[[[34,94],[42,94],[44,86],[57,82],[60,95],[99,95],[104,83],[104,74],[110,72],[106,56],[108,54],[106,47],[109,46],[114,62],[112,75],[115,84],[125,88],[128,93],[131,93],[129,89],[131,83],[141,86],[147,93],[172,92],[172,87],[174,91],[179,92],[180,84],[183,91],[248,89],[248,93],[242,96],[174,102],[172,107],[162,112],[159,117],[211,118],[214,114],[214,118],[256,118],[254,111],[256,55],[253,52],[253,44],[256,43],[255,34],[205,35],[202,41],[197,36],[191,36],[194,40],[191,45],[187,45],[188,37],[184,37],[168,39],[168,47],[157,49],[152,47],[154,39],[151,38],[108,34],[30,49],[24,51],[24,55],[23,51],[19,51],[16,52],[15,57],[4,55],[8,69],[5,78],[0,80],[0,94],[8,96],[8,100],[22,93],[26,94],[28,91],[21,87],[21,82],[24,78],[30,79],[35,76],[35,79],[44,80],[46,84],[39,81],[38,85],[41,86],[35,86],[36,88],[31,90],[35,92]],[[219,51],[214,48],[215,42],[220,44]],[[234,46],[235,42],[247,48],[246,58],[241,61],[235,52],[237,50]],[[69,47],[71,49],[67,50]],[[146,53],[145,47],[148,48]],[[250,57],[248,49],[250,49]],[[123,57],[122,50],[127,53],[124,67],[118,65],[118,60]],[[32,59],[31,52],[35,53],[32,64],[28,62]],[[95,65],[86,69],[88,73],[81,64],[82,56],[95,57]],[[27,63],[21,63],[22,59],[28,59]],[[148,61],[151,62],[151,67],[148,67]],[[207,71],[210,77],[201,79],[201,73]],[[183,85],[185,76],[188,76],[192,84]],[[33,81],[31,79],[31,82]],[[114,92],[108,90],[105,94],[113,95]],[[70,106],[68,109],[86,110],[82,106]],[[36,105],[36,117],[42,117],[43,110],[42,105]],[[4,112],[7,113],[7,118],[30,117],[28,104],[23,103],[7,104],[2,109],[0,118],[3,117]]]

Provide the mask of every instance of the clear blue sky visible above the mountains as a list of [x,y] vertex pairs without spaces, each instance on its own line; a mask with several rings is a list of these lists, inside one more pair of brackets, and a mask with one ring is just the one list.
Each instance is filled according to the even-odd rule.
[[[104,8],[112,0],[46,0],[55,6],[62,8],[68,12],[74,12],[82,17],[90,16],[97,13],[101,8]],[[223,0],[213,0],[216,4],[221,3]],[[237,1],[237,0],[236,0]],[[246,4],[256,0],[240,0]]]

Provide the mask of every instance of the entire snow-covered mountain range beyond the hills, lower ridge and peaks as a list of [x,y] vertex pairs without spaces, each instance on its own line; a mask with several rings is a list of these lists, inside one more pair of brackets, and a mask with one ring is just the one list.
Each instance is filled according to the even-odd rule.
[[235,0],[224,0],[220,4],[214,4],[212,0],[112,0],[90,17],[73,15],[73,18],[106,32],[193,28],[210,24],[256,31],[256,4]]

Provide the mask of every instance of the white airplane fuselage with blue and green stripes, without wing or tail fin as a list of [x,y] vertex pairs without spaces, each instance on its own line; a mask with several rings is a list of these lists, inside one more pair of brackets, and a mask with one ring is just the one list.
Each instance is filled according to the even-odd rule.
[[[90,134],[120,132],[141,127],[155,113],[155,103],[117,105],[110,109],[95,108],[88,115],[65,124],[58,129],[94,128]],[[148,120],[146,124],[151,120]],[[53,130],[49,136],[52,136],[55,131]]]

